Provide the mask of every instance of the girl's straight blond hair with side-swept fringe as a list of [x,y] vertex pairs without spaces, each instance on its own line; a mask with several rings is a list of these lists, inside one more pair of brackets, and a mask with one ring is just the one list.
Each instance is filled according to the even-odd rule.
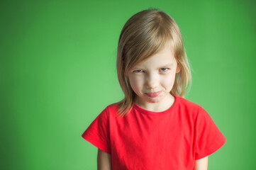
[[162,50],[170,42],[180,72],[176,74],[170,94],[184,96],[191,83],[191,70],[182,34],[174,19],[156,8],[135,13],[123,26],[118,41],[116,68],[125,97],[118,102],[118,116],[123,117],[133,107],[135,93],[128,80],[128,71],[139,62]]

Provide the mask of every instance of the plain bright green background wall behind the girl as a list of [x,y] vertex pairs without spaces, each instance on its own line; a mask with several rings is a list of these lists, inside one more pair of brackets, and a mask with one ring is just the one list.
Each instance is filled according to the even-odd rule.
[[1,1],[1,169],[96,169],[81,135],[123,98],[118,37],[138,11],[179,25],[192,67],[186,98],[227,142],[208,169],[255,169],[255,1]]

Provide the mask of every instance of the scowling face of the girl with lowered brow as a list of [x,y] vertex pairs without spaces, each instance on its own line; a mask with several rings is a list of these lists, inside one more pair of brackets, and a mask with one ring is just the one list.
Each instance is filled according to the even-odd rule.
[[143,106],[160,103],[160,106],[164,106],[172,97],[169,92],[172,90],[175,75],[179,70],[169,45],[166,45],[157,54],[136,64],[128,72],[130,86],[136,94],[135,103],[140,103]]

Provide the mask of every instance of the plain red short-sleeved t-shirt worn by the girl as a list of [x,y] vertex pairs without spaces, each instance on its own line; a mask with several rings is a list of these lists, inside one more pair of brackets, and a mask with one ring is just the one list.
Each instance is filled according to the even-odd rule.
[[116,103],[107,106],[82,134],[111,154],[113,170],[193,169],[195,159],[216,152],[226,142],[208,113],[175,96],[167,111],[152,112],[133,103],[123,118]]

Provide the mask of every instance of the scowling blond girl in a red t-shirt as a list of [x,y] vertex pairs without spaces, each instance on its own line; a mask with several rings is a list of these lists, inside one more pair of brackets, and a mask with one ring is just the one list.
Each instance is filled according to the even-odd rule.
[[118,42],[125,97],[82,134],[98,147],[98,169],[207,169],[226,142],[210,115],[184,96],[191,71],[174,19],[148,9],[132,16]]

